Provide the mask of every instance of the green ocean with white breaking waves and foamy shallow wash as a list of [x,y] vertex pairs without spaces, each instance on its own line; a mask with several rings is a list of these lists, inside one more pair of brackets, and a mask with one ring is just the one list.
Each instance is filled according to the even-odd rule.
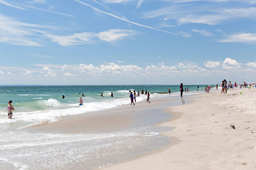
[[[204,92],[201,89],[204,90],[205,85],[199,85],[199,92],[198,85],[185,87],[189,88],[187,94],[194,94]],[[73,169],[81,164],[81,169],[99,169],[159,149],[169,142],[168,137],[160,134],[172,127],[152,126],[164,122],[168,114],[108,133],[60,134],[24,130],[43,122],[79,114],[98,114],[100,110],[130,104],[129,90],[140,92],[142,89],[150,92],[151,99],[180,96],[179,85],[0,86],[0,169]],[[111,92],[114,97],[110,96]],[[79,106],[77,102],[82,94],[85,95],[82,97],[84,104]],[[7,118],[9,100],[15,108],[13,119]],[[146,96],[140,95],[136,100],[145,102]]]

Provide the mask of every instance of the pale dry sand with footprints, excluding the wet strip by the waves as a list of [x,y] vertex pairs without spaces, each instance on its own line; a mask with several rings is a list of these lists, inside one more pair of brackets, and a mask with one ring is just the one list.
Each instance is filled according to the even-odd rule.
[[166,149],[103,169],[256,169],[256,88],[220,93],[167,108],[177,119],[160,124],[176,127],[164,133],[173,137]]

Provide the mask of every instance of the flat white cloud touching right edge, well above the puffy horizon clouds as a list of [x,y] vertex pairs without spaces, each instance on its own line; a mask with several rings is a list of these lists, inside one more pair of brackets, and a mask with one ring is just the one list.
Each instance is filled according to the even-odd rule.
[[241,43],[255,43],[256,33],[237,33],[233,35],[226,35],[226,38],[219,42],[241,42]]

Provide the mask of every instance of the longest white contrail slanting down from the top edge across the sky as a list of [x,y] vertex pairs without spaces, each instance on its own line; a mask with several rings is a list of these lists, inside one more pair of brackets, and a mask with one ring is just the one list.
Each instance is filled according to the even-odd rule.
[[[121,18],[121,17],[119,17],[119,16],[117,16],[117,15],[114,15],[114,14],[112,14],[112,13],[104,12],[104,11],[102,11],[102,10],[100,10],[100,9],[97,9],[97,8],[95,8],[95,7],[93,7],[93,6],[89,5],[89,4],[84,3],[84,2],[81,2],[81,1],[78,1],[78,0],[74,0],[74,1],[79,2],[79,3],[81,3],[81,4],[85,5],[85,6],[91,7],[91,8],[94,9],[96,12],[100,12],[100,13],[107,14],[107,15],[109,15],[109,16],[115,17],[115,18],[117,18],[117,19],[123,20],[123,21],[125,21],[125,22],[131,23],[131,24],[134,24],[134,25],[138,25],[138,26],[142,26],[142,27],[146,27],[146,28],[150,28],[150,29],[155,29],[155,30],[158,30],[158,31],[162,31],[162,32],[166,32],[166,33],[170,33],[170,34],[174,34],[174,35],[183,36],[183,35],[180,35],[180,34],[177,34],[177,33],[173,33],[173,32],[169,32],[169,31],[166,31],[166,30],[161,30],[161,29],[154,28],[154,27],[151,27],[151,26],[147,26],[147,25],[142,25],[142,24],[139,24],[139,23],[135,23],[135,22],[129,21],[129,20],[125,19],[125,18]],[[183,36],[183,37],[184,37],[184,36]]]

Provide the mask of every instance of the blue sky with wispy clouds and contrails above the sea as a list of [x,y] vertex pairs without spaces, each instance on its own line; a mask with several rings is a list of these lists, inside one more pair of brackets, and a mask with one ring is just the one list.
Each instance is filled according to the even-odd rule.
[[256,0],[0,0],[0,85],[252,82],[255,45]]

